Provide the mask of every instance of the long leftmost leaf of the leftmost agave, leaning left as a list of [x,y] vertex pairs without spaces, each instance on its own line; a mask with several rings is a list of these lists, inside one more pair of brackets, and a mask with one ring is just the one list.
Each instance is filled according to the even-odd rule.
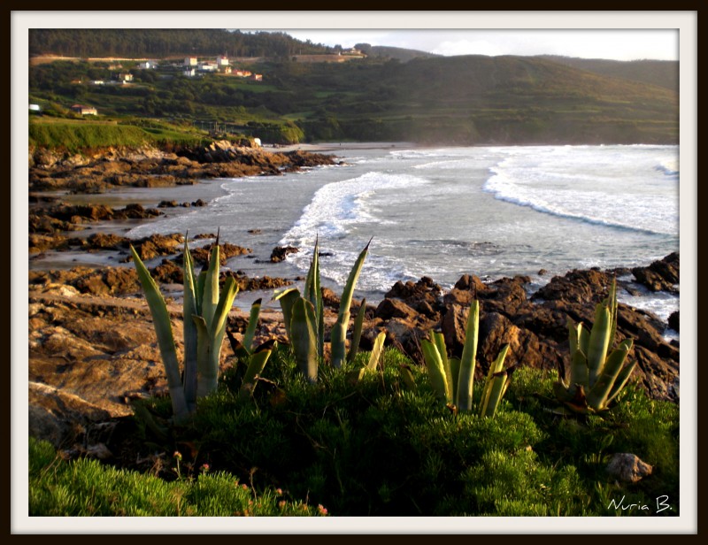
[[167,386],[170,388],[174,417],[177,420],[181,420],[189,415],[189,407],[181,383],[180,364],[177,360],[177,349],[174,346],[170,313],[167,311],[165,298],[160,293],[157,282],[150,276],[150,272],[142,263],[142,259],[138,256],[132,244],[130,251],[133,255],[133,262],[142,285],[142,291],[150,307],[155,334],[158,337],[158,346],[162,356],[162,363],[165,366]]

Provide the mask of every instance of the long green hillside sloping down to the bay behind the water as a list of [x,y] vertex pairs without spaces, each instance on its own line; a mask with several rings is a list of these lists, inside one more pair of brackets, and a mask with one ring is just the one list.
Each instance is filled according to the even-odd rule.
[[[287,41],[284,35],[279,39]],[[262,74],[262,81],[225,73],[187,77],[181,58],[162,61],[157,70],[141,70],[136,60],[31,65],[29,101],[58,117],[73,104],[87,104],[96,107],[99,119],[160,119],[204,131],[220,127],[264,142],[678,142],[676,91],[588,66],[512,56],[341,63],[293,58],[233,63]],[[635,67],[625,73],[641,73],[643,67],[645,75],[651,72],[650,65],[637,63],[624,64]],[[110,84],[119,72],[134,80]],[[96,80],[108,84],[91,84]]]

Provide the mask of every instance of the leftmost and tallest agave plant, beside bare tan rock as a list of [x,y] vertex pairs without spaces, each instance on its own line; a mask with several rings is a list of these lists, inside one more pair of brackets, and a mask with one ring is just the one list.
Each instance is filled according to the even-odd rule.
[[198,276],[185,237],[182,377],[165,298],[132,245],[130,250],[142,290],[150,306],[160,355],[165,365],[174,420],[179,423],[195,411],[198,397],[209,395],[217,388],[221,345],[228,312],[234,303],[238,286],[234,278],[229,277],[223,290],[219,290],[219,236],[212,247],[207,270],[203,270]]

